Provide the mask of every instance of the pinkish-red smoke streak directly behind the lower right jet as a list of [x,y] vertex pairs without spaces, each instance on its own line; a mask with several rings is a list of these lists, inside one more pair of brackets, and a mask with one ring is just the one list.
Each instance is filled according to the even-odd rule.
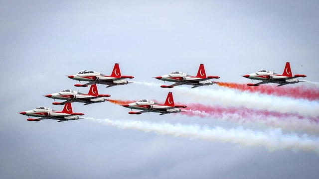
[[[196,111],[198,111],[196,113]],[[204,113],[203,113],[204,112]],[[241,120],[246,121],[255,121],[255,117],[263,117],[265,120],[269,117],[276,117],[278,118],[278,121],[287,121],[290,118],[297,118],[299,120],[308,120],[312,123],[319,124],[319,117],[311,117],[311,116],[300,116],[298,114],[293,113],[280,113],[275,111],[268,111],[268,110],[256,110],[256,109],[250,109],[246,107],[221,107],[219,105],[211,106],[211,105],[204,105],[199,103],[190,103],[187,104],[186,112],[184,112],[187,116],[199,116],[199,117],[207,117],[207,115],[217,118],[223,118],[227,114],[232,114],[233,116],[227,116],[230,117],[230,119],[236,117],[240,117]],[[184,114],[181,113],[181,114]],[[234,120],[233,119],[233,120]]]

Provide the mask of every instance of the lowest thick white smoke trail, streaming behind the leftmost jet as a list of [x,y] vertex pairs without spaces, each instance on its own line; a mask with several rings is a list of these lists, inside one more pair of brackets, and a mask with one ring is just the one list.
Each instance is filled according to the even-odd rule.
[[264,146],[269,151],[276,150],[301,150],[313,151],[319,154],[319,138],[303,134],[298,136],[296,133],[283,134],[281,129],[268,129],[266,131],[253,131],[244,129],[242,126],[232,129],[224,129],[223,127],[215,126],[210,128],[207,125],[199,126],[151,123],[147,121],[120,121],[109,119],[94,119],[87,118],[93,121],[100,122],[104,125],[115,126],[120,129],[134,129],[144,131],[146,133],[154,132],[158,135],[169,135],[174,137],[185,137],[190,139],[200,139],[206,141],[231,142],[244,146]]

